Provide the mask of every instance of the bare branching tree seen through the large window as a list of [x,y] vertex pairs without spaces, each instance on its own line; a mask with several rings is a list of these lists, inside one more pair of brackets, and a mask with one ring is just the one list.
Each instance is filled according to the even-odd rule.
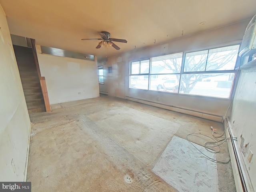
[[[239,46],[238,46],[239,47]],[[212,52],[209,54],[187,54],[184,64],[184,72],[204,72],[218,70],[233,70],[236,64],[238,47],[233,50],[222,52]],[[163,60],[159,65],[171,69],[174,73],[180,72],[180,59],[173,58],[172,60]],[[216,73],[211,76],[220,76],[223,74]],[[180,78],[180,74],[176,74]],[[189,94],[197,82],[208,78],[204,73],[183,74],[181,79],[181,90],[183,93]],[[232,79],[230,79],[232,81]]]

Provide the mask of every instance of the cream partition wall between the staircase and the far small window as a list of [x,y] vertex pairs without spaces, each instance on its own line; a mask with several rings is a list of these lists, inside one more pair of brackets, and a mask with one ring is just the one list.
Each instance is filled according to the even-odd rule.
[[36,52],[50,104],[99,96],[97,61],[42,54],[39,45]]

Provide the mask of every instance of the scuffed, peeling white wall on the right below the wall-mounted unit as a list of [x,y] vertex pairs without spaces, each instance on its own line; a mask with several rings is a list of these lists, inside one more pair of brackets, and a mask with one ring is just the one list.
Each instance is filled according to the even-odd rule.
[[[244,158],[250,180],[256,190],[256,68],[242,70],[236,88],[230,121]],[[249,163],[250,150],[254,153]]]

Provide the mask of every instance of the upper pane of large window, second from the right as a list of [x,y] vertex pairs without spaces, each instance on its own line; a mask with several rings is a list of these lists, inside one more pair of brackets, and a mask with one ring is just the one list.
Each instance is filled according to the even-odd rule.
[[185,58],[184,72],[204,71],[208,50],[187,53]]

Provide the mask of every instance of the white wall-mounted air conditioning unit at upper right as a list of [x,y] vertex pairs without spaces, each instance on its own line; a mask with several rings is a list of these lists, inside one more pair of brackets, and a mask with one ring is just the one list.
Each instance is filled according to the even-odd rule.
[[252,18],[246,30],[240,47],[239,56],[250,56],[256,53],[256,15]]

